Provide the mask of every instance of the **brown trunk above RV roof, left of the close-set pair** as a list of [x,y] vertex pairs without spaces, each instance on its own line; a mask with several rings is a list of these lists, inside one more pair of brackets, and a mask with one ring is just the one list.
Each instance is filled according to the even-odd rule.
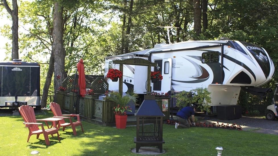
[[199,36],[202,31],[201,18],[202,18],[202,9],[200,5],[201,0],[193,0],[194,3],[194,32],[196,36]]

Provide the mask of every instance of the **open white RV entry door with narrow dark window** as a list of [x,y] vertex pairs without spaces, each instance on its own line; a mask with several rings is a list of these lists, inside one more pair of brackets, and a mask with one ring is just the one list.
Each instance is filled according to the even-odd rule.
[[172,58],[165,58],[162,61],[162,76],[161,80],[161,92],[167,93],[171,90],[172,81]]

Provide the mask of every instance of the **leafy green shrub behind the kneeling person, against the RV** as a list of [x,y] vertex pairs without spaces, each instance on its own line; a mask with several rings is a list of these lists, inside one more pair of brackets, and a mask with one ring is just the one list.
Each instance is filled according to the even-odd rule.
[[[193,96],[192,96],[193,95]],[[198,104],[201,111],[210,112],[211,96],[208,88],[198,87],[190,90],[189,92],[182,91],[173,95],[173,98],[177,98],[177,106],[185,107],[188,104]]]

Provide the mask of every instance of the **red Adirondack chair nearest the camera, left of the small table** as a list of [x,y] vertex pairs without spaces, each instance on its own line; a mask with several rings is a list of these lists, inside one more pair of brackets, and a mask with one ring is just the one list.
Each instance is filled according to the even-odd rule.
[[[37,139],[39,138],[40,134],[43,134],[46,145],[50,145],[48,135],[57,134],[58,140],[60,141],[57,128],[44,129],[42,123],[37,123],[33,107],[27,105],[20,106],[19,112],[24,119],[23,124],[25,124],[25,127],[28,127],[29,129],[27,142],[29,141],[30,136],[34,134],[37,134]],[[38,127],[39,125],[42,127],[41,129]]]

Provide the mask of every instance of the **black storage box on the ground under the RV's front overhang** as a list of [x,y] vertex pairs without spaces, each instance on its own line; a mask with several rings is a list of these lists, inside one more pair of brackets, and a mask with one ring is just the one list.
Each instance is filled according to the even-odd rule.
[[241,118],[241,105],[222,105],[217,106],[217,118],[232,120]]

